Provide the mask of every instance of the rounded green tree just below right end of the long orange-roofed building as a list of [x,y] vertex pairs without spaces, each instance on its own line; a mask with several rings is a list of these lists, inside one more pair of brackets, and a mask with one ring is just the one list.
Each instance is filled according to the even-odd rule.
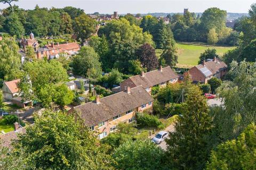
[[90,69],[95,69],[95,76],[100,77],[102,70],[99,62],[99,56],[92,47],[84,46],[79,54],[73,58],[71,63],[73,73],[76,75],[87,76]]

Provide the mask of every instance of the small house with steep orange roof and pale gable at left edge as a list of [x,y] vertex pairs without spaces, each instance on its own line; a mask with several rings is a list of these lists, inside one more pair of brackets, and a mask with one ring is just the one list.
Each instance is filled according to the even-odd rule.
[[19,96],[19,88],[18,84],[20,79],[5,81],[3,83],[2,91],[4,95],[4,99],[12,100],[12,98]]

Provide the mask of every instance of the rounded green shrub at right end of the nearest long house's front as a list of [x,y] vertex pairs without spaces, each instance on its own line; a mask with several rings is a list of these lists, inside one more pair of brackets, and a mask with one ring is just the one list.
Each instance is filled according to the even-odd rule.
[[162,129],[163,123],[158,119],[157,116],[149,115],[147,113],[137,113],[137,123],[140,127],[155,127]]

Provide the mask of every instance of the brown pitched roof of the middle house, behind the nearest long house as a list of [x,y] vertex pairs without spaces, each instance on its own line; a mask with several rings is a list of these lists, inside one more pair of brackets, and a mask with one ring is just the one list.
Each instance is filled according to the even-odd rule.
[[143,88],[147,88],[178,77],[178,74],[176,74],[170,66],[167,66],[164,67],[162,71],[154,70],[144,73],[144,77],[141,75],[134,75],[133,77],[130,77],[130,79],[136,86],[141,85]]

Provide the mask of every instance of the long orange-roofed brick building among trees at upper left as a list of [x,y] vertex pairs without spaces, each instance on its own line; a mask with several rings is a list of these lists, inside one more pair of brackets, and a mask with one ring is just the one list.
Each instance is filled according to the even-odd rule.
[[65,43],[56,45],[54,43],[47,44],[42,48],[38,48],[36,51],[37,59],[42,59],[44,56],[48,60],[58,58],[60,53],[65,53],[67,56],[76,54],[80,50],[80,46],[77,43]]

